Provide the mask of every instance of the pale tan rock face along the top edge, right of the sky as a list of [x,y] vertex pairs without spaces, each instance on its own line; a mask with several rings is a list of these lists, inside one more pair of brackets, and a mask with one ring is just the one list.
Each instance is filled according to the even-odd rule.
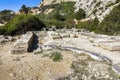
[[77,0],[42,0],[39,6],[41,5],[51,5],[51,4],[57,4],[61,2],[76,2]]

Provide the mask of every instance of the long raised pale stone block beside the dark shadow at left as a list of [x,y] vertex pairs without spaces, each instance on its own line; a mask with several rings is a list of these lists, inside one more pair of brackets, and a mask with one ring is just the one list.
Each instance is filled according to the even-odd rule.
[[32,32],[27,32],[26,34],[22,35],[22,38],[15,43],[11,53],[21,54],[28,52],[32,46],[33,38],[34,34]]

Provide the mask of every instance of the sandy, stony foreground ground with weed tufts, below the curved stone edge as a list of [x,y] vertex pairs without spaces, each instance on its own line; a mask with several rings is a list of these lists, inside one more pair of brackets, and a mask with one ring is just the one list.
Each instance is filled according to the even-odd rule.
[[[13,55],[13,43],[0,47],[0,80],[119,80],[111,64],[84,53],[48,50]],[[54,56],[53,53],[60,53]]]

